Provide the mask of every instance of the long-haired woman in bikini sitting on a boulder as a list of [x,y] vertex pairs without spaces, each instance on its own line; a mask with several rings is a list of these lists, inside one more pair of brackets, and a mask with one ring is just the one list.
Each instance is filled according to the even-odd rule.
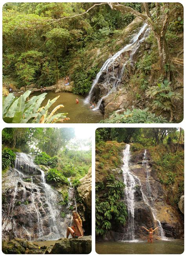
[[73,221],[74,225],[72,227],[67,227],[67,238],[69,237],[69,234],[71,234],[73,238],[82,238],[82,220],[77,212],[73,212]]

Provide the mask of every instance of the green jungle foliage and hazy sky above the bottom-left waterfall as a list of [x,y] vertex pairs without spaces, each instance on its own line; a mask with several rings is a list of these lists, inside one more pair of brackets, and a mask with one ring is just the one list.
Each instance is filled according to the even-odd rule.
[[[73,139],[73,141],[72,141]],[[89,140],[75,138],[73,128],[4,128],[2,131],[2,169],[13,166],[14,152],[35,155],[35,164],[47,169],[47,182],[74,186],[91,167]],[[88,146],[88,150],[81,147]]]

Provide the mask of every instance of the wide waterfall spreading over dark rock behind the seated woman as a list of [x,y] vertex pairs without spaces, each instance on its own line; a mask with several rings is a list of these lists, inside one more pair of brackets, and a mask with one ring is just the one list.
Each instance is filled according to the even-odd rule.
[[[3,232],[11,237],[50,240],[64,237],[68,220],[61,216],[71,211],[60,206],[62,195],[46,183],[45,173],[30,155],[16,153],[15,168],[10,169],[5,190],[7,208],[3,210]],[[9,236],[9,235],[8,235]]]

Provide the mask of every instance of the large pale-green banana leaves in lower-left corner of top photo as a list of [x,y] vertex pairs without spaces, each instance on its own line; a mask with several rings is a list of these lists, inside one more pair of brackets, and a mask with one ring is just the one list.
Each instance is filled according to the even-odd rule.
[[42,93],[38,96],[33,96],[31,99],[27,98],[31,94],[31,91],[26,91],[19,98],[15,97],[12,93],[8,94],[7,97],[3,98],[3,120],[6,123],[56,123],[64,122],[64,120],[69,120],[66,117],[68,113],[58,113],[55,112],[64,107],[63,105],[58,105],[48,113],[49,108],[60,96],[52,100],[48,100],[47,105],[41,107],[47,93]]

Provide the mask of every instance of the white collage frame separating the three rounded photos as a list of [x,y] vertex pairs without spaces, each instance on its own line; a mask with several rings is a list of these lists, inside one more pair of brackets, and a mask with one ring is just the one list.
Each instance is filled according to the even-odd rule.
[[[20,2],[20,1],[2,1],[2,4],[1,4],[1,17],[2,17],[2,6],[7,3],[7,2]],[[28,0],[25,0],[23,2],[30,2]],[[52,2],[52,1],[44,1],[44,0],[41,0],[41,1],[31,1],[31,2]],[[74,1],[55,1],[55,2],[74,2]],[[78,2],[91,2],[91,1],[78,1]],[[118,2],[118,1],[112,1],[112,2]],[[121,2],[121,1],[120,1]],[[136,2],[136,1],[131,1],[131,2]],[[139,1],[139,2],[147,2],[147,1]],[[160,1],[157,1],[157,2],[160,2]],[[164,1],[164,2],[175,2],[175,1]],[[99,3],[98,1],[96,1],[95,3]],[[186,8],[186,4],[183,0],[179,1],[179,3],[181,3],[183,5],[184,8]],[[186,18],[186,13],[184,11],[184,18]],[[2,33],[2,19],[1,19],[1,33]],[[185,29],[185,25],[184,25],[184,29]],[[0,42],[1,44],[1,50],[2,50],[2,41]],[[186,40],[184,40],[184,47],[186,47]],[[1,63],[2,63],[2,54],[1,54]],[[2,75],[2,68],[1,68],[1,75]],[[185,75],[185,72],[184,72],[184,81],[186,80],[186,75]],[[0,97],[0,104],[2,106],[2,97]],[[10,127],[10,128],[18,128],[18,127],[24,127],[24,128],[39,128],[39,127],[42,127],[42,128],[49,128],[49,127],[53,127],[53,128],[75,128],[75,127],[78,127],[78,128],[81,128],[82,126],[84,127],[84,129],[87,129],[89,131],[89,133],[91,134],[91,144],[92,144],[92,156],[91,156],[91,159],[92,159],[92,208],[91,208],[91,218],[92,218],[92,223],[91,223],[91,227],[92,227],[92,250],[90,252],[90,256],[91,255],[95,255],[95,253],[97,254],[96,250],[95,250],[95,237],[96,237],[96,234],[95,234],[95,180],[96,180],[96,174],[95,174],[95,158],[96,158],[96,154],[95,154],[95,147],[96,147],[96,144],[95,144],[95,131],[98,129],[98,128],[182,128],[185,132],[185,127],[186,127],[186,118],[185,118],[185,112],[186,112],[186,92],[184,90],[184,106],[183,106],[183,109],[184,109],[184,118],[182,120],[181,123],[147,123],[147,124],[144,124],[144,123],[133,123],[133,124],[130,124],[130,123],[125,123],[125,124],[122,124],[122,123],[117,123],[117,124],[114,124],[114,123],[55,123],[55,124],[48,124],[48,123],[44,123],[44,124],[39,124],[39,123],[25,123],[25,124],[22,124],[22,123],[5,123],[2,119],[1,119],[1,138],[2,138],[2,130],[4,128],[7,128],[7,127]],[[2,108],[1,108],[1,115],[2,115]],[[185,138],[185,133],[184,133],[184,138]],[[2,147],[0,149],[1,151],[1,155],[2,155]],[[186,153],[184,152],[184,163],[186,164]],[[2,202],[2,199],[1,199],[1,202]],[[184,218],[185,219],[185,218]],[[2,220],[2,215],[1,215],[1,220]],[[1,228],[2,230],[2,228]],[[1,243],[1,250],[2,250],[2,243]],[[184,253],[184,252],[182,252]],[[64,254],[64,255],[67,255],[67,254]],[[80,255],[84,255],[84,254],[80,254]],[[105,254],[105,255],[117,255],[117,254]],[[137,254],[136,254],[137,255]]]

